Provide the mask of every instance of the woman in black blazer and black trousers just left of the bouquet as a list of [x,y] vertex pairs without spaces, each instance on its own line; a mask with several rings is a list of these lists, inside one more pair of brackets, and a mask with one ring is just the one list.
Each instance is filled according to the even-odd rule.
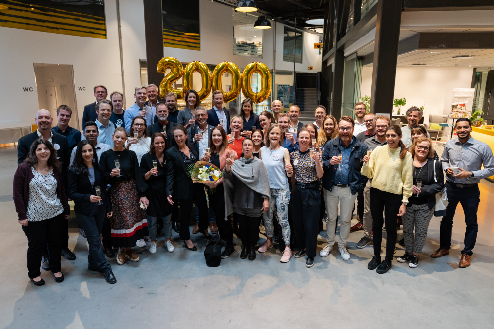
[[180,206],[180,238],[189,250],[197,250],[190,240],[189,218],[192,202],[199,208],[199,233],[210,237],[207,232],[207,201],[204,194],[204,185],[193,183],[187,176],[187,168],[195,165],[199,160],[196,148],[187,139],[187,130],[184,126],[175,126],[171,132],[177,145],[166,150],[166,195],[168,202]]

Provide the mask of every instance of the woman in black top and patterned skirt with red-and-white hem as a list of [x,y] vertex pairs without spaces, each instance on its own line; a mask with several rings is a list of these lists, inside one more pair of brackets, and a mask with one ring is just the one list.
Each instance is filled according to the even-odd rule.
[[112,138],[113,147],[101,154],[100,165],[105,183],[112,185],[112,246],[119,248],[117,264],[124,265],[126,259],[139,261],[131,247],[138,239],[149,235],[145,210],[149,205],[146,198],[148,185],[141,174],[137,155],[125,148],[125,128],[115,129]]

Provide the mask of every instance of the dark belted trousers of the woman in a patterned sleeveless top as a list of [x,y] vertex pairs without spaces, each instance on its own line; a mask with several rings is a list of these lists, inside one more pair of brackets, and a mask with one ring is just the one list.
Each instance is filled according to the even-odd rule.
[[298,248],[305,249],[308,257],[316,256],[317,234],[319,229],[319,210],[321,192],[319,185],[312,188],[300,188],[295,184],[291,192],[293,200],[293,228]]

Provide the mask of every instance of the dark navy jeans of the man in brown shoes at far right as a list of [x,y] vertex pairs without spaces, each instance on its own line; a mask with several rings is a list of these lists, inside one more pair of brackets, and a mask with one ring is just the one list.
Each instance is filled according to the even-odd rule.
[[[446,195],[448,197],[448,206],[446,206],[446,215],[441,220],[439,229],[439,241],[444,249],[451,248],[451,230],[453,228],[453,217],[456,211],[458,202],[461,203],[463,212],[465,213],[465,248],[461,251],[462,254],[472,256],[473,247],[477,241],[477,210],[480,203],[479,186],[473,187],[453,187],[448,183],[446,185]],[[375,230],[374,230],[375,231]],[[374,232],[375,233],[375,232]]]

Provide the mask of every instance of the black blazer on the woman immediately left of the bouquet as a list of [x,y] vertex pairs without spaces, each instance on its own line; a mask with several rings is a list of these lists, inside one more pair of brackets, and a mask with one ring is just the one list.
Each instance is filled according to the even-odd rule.
[[[199,159],[199,154],[197,154],[194,144],[188,143],[187,146],[196,159]],[[178,150],[178,145],[167,149],[165,155],[167,170],[166,197],[172,195],[174,200],[188,199],[190,193],[189,186],[192,183],[192,179],[186,175],[187,168],[185,167],[182,153]]]

